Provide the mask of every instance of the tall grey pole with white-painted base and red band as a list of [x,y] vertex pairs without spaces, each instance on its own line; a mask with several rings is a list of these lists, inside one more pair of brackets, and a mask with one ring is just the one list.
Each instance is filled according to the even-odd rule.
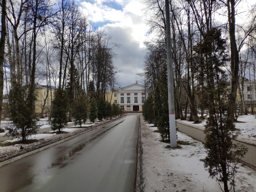
[[167,50],[167,82],[168,82],[168,103],[169,103],[169,124],[170,124],[170,143],[171,147],[177,147],[176,123],[173,92],[173,66],[172,66],[172,48],[171,48],[171,26],[169,0],[165,0],[166,15],[166,50]]

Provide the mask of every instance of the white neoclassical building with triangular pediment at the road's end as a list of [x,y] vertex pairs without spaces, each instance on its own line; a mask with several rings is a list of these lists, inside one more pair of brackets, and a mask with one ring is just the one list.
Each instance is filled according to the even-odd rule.
[[118,90],[118,103],[126,112],[142,111],[145,96],[145,87],[134,83]]

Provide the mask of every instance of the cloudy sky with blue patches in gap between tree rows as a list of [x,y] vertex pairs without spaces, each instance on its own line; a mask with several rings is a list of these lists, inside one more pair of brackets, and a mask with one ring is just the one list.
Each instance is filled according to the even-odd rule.
[[78,5],[96,25],[104,27],[112,36],[112,42],[121,44],[115,49],[114,65],[122,72],[118,83],[124,87],[144,78],[136,75],[143,72],[148,27],[143,20],[143,4],[140,0],[79,0]]

